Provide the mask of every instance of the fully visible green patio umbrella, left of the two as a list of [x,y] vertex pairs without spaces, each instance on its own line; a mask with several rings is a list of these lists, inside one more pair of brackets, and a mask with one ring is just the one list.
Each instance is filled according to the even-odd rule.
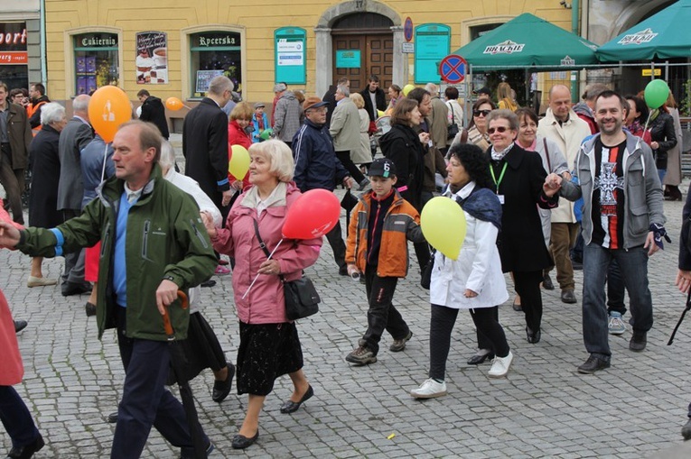
[[597,45],[525,13],[453,51],[472,69],[583,69],[596,64]]

